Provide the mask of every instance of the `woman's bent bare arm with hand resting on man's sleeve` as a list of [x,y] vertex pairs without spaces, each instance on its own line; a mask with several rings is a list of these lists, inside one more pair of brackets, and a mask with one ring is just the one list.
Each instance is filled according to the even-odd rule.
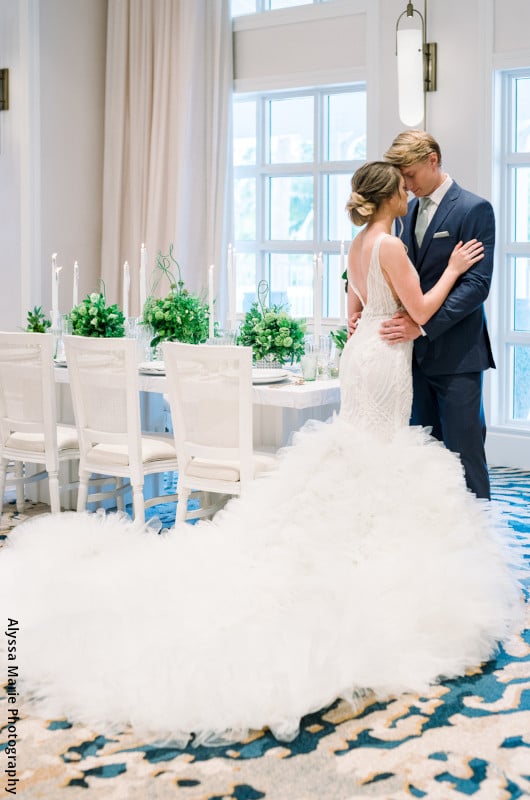
[[483,255],[482,242],[476,239],[466,244],[459,242],[438,281],[423,294],[403,243],[399,239],[386,237],[379,250],[381,268],[390,286],[418,325],[425,324],[438,311],[460,275],[480,261]]

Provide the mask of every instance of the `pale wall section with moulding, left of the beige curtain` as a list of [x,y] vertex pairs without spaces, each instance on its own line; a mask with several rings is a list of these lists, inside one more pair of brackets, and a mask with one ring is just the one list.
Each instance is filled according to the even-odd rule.
[[0,0],[0,60],[10,109],[0,112],[0,327],[51,305],[50,258],[63,265],[60,305],[97,285],[106,0]]

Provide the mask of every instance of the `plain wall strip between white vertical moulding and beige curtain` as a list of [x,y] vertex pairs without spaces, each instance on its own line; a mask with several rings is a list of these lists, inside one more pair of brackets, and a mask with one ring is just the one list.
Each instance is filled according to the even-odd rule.
[[[80,298],[97,288],[101,253],[106,0],[41,0],[41,258],[57,251],[69,311],[74,260]],[[46,267],[45,267],[46,269]],[[50,291],[44,283],[44,297]]]

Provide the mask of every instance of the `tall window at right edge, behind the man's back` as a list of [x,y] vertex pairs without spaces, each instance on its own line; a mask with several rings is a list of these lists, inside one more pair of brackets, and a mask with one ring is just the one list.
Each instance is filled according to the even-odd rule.
[[498,422],[530,428],[530,70],[502,74]]

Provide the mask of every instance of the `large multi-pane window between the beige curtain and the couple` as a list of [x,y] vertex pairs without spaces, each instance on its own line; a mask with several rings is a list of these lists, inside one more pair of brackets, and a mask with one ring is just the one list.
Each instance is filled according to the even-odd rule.
[[366,159],[364,84],[236,96],[233,130],[237,313],[265,280],[270,304],[311,319],[322,253],[322,318],[343,321],[341,243],[347,253],[355,234],[344,207]]

